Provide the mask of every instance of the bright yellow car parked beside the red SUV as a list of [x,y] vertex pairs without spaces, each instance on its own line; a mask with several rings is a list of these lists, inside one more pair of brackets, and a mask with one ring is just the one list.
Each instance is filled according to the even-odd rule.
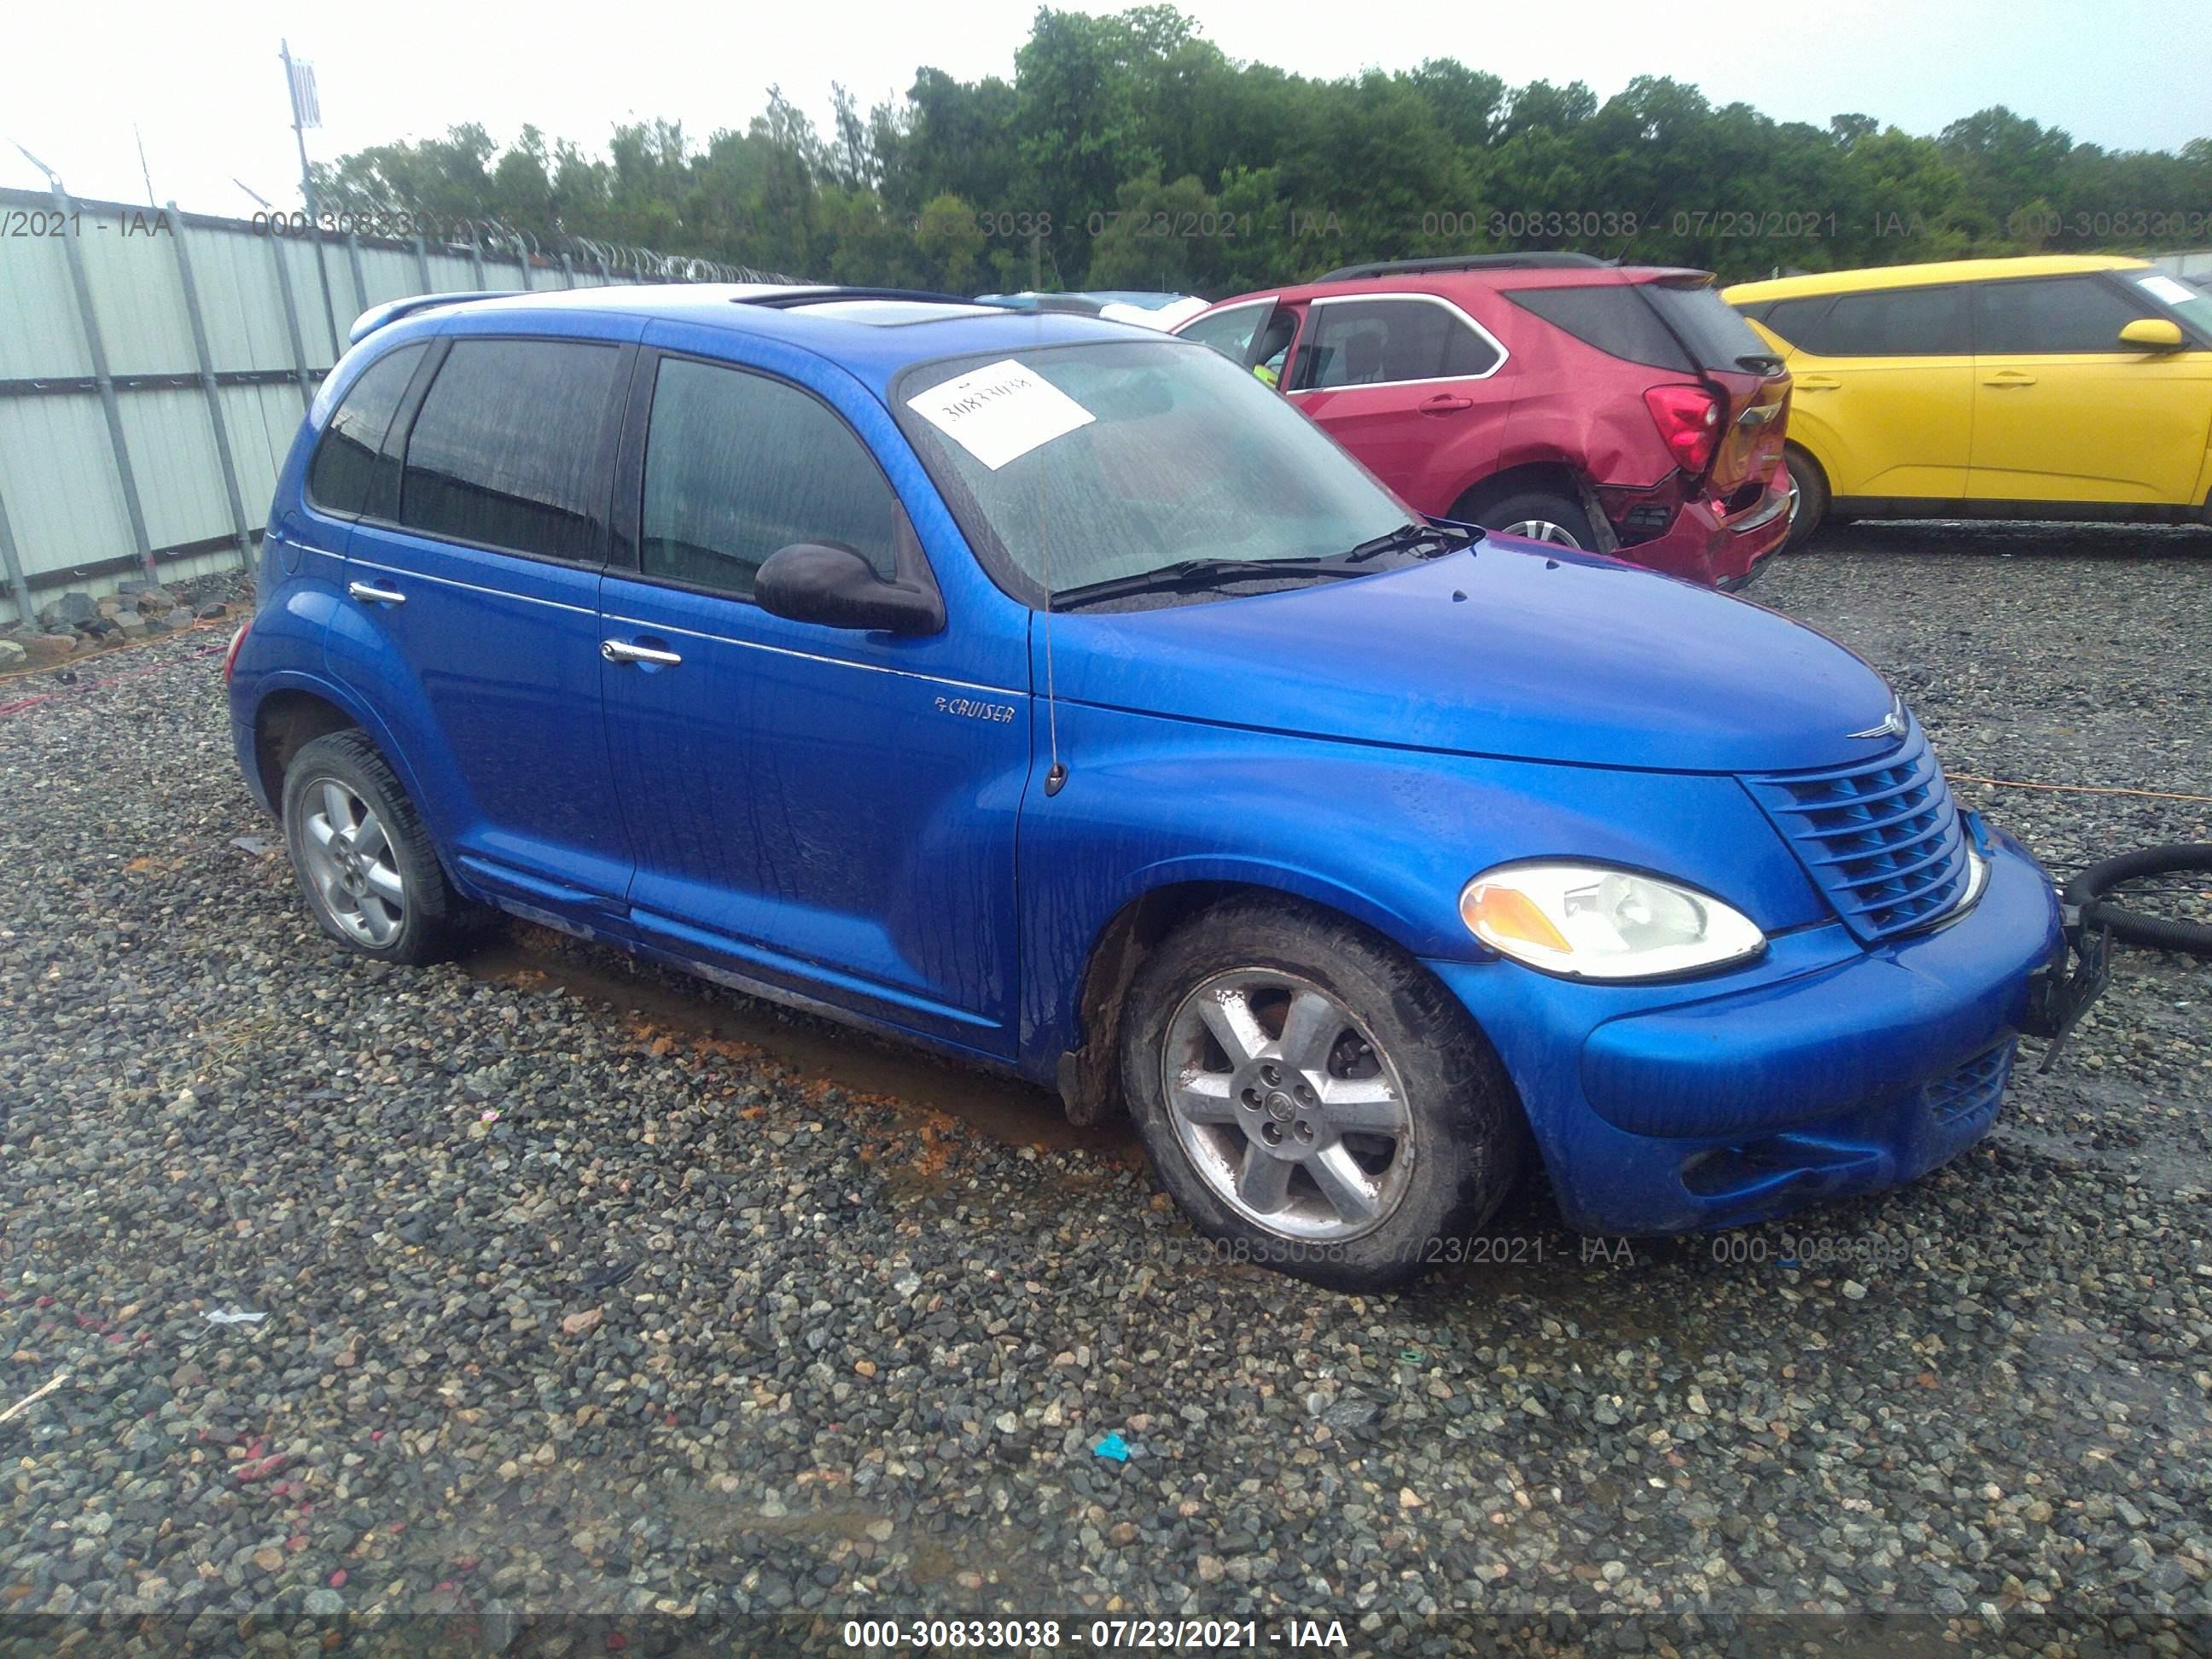
[[1794,383],[1790,544],[1827,518],[2212,522],[2212,292],[2141,259],[1739,283]]

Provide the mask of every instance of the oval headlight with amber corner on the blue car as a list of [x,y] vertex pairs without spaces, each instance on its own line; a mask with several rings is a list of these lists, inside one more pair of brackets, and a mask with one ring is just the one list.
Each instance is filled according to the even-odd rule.
[[1719,898],[1604,865],[1500,865],[1460,894],[1467,929],[1515,962],[1582,980],[1644,980],[1741,962],[1767,936]]

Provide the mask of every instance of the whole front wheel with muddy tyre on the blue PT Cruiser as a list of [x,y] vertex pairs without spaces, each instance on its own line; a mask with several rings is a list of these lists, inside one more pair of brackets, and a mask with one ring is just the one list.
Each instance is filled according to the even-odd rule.
[[1336,1290],[1449,1261],[1520,1164],[1467,1011],[1360,927],[1232,900],[1130,987],[1121,1075],[1161,1183],[1237,1259]]

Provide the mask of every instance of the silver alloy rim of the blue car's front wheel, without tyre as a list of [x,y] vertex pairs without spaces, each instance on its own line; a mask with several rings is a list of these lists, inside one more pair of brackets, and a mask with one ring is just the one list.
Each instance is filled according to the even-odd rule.
[[1201,982],[1168,1022],[1168,1115],[1239,1217],[1283,1239],[1358,1239],[1413,1175],[1398,1068],[1354,1013],[1283,969]]

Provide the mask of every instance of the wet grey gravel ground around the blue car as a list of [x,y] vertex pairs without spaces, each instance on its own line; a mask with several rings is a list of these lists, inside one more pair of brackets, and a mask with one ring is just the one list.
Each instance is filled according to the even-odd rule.
[[[1840,531],[1756,597],[1891,672],[1955,774],[2212,794],[2212,535]],[[1128,1135],[1033,1091],[542,936],[347,958],[232,772],[221,639],[0,690],[58,692],[0,719],[0,1411],[58,1380],[0,1422],[0,1644],[761,1610],[2212,1644],[2212,967],[2124,951],[1913,1188],[1632,1254],[1537,1188],[1509,1261],[1347,1298],[1194,1259]],[[2203,803],[1960,796],[2053,865],[2212,841]]]

